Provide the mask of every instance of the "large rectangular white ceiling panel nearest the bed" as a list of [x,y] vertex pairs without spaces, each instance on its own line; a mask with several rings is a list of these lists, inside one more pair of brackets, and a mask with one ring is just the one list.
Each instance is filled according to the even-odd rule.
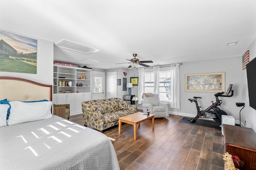
[[84,54],[91,54],[91,53],[96,53],[100,51],[100,49],[96,49],[94,47],[89,47],[86,45],[74,43],[72,41],[68,40],[62,40],[59,43],[56,44],[57,47],[63,48],[63,49],[68,49],[71,51],[76,51],[79,53],[84,53]]

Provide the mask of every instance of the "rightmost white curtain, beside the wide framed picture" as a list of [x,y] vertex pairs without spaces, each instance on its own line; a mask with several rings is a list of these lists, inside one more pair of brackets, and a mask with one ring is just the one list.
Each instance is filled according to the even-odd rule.
[[180,110],[180,64],[171,65],[171,99],[170,107]]

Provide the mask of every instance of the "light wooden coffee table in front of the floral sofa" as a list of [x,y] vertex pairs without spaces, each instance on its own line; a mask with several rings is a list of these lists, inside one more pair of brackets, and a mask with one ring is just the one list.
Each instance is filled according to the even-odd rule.
[[122,126],[122,122],[124,123],[128,123],[130,125],[133,125],[133,132],[134,132],[134,141],[136,141],[136,135],[137,135],[137,125],[140,123],[148,120],[148,119],[152,119],[152,127],[154,129],[154,120],[155,120],[155,115],[154,114],[150,114],[148,115],[143,115],[145,113],[142,112],[137,112],[137,113],[133,113],[131,115],[127,115],[124,117],[120,117],[118,119],[118,135],[121,134],[121,126]]

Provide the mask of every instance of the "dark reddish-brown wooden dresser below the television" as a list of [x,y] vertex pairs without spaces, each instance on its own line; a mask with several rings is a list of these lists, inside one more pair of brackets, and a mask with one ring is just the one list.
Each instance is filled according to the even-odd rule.
[[240,170],[256,170],[256,133],[251,128],[223,124],[224,153],[244,161]]

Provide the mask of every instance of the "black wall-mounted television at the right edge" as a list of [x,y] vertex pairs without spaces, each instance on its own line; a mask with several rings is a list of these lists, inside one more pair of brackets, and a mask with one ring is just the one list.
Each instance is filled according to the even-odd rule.
[[256,59],[246,64],[249,106],[256,110]]

